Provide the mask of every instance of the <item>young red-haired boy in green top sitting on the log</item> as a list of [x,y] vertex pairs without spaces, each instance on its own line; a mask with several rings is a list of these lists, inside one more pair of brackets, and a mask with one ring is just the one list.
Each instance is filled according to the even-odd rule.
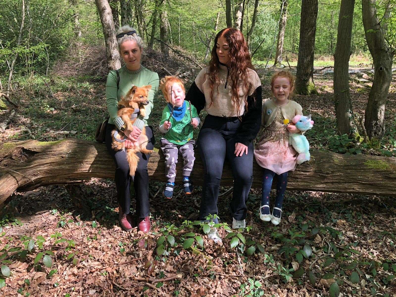
[[168,182],[163,195],[172,198],[175,187],[177,155],[183,157],[184,193],[191,194],[190,182],[192,166],[194,166],[194,144],[192,130],[200,123],[196,108],[184,101],[185,88],[183,82],[175,76],[165,76],[161,80],[160,89],[168,105],[162,111],[160,131],[165,133],[160,140],[161,150],[165,156],[165,173]]

